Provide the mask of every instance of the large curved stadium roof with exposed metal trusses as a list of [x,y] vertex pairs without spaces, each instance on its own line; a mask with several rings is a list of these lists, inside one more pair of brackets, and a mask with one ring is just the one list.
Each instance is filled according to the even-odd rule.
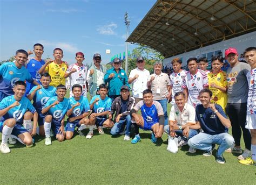
[[168,58],[255,30],[253,0],[158,0],[126,41]]

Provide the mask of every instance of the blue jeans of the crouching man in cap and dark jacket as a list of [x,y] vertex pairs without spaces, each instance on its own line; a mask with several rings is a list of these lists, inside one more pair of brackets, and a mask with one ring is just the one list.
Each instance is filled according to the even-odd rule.
[[125,119],[120,119],[119,122],[114,123],[114,126],[112,127],[110,133],[112,134],[112,136],[116,136],[117,134],[119,134],[124,126],[126,124],[126,129],[125,129],[125,135],[126,136],[130,136],[130,130],[131,130],[131,116],[127,115],[125,117]]

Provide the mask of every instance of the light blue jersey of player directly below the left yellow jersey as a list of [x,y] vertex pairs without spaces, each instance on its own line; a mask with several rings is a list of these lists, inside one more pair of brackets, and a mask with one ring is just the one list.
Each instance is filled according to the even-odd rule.
[[[49,86],[48,88],[44,88],[42,85],[41,87],[42,88],[37,90],[35,96],[33,97],[33,106],[36,108],[38,115],[44,117],[45,115],[42,114],[42,109],[45,107],[46,102],[51,97],[57,95],[55,87]],[[31,94],[36,88],[37,86],[33,87],[29,94]]]

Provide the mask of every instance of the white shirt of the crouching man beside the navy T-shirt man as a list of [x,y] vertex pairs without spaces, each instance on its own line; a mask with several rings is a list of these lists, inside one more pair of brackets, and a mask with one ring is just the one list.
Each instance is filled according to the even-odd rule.
[[182,112],[180,112],[178,106],[175,104],[170,111],[169,120],[177,121],[178,125],[185,125],[188,122],[196,124],[196,110],[192,105],[185,103]]

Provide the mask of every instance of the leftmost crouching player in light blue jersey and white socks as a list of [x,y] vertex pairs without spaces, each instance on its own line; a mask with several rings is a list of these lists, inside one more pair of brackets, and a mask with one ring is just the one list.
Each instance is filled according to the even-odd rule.
[[[18,141],[26,146],[32,146],[32,136],[36,134],[38,114],[29,99],[24,97],[25,91],[25,82],[17,81],[14,83],[14,95],[3,98],[0,103],[0,117],[3,116],[0,118],[0,132],[2,132],[2,153],[11,152],[7,144],[10,134],[16,136]],[[31,128],[30,126],[30,131],[28,131],[22,124],[30,125],[32,118],[34,120],[33,127]]]

